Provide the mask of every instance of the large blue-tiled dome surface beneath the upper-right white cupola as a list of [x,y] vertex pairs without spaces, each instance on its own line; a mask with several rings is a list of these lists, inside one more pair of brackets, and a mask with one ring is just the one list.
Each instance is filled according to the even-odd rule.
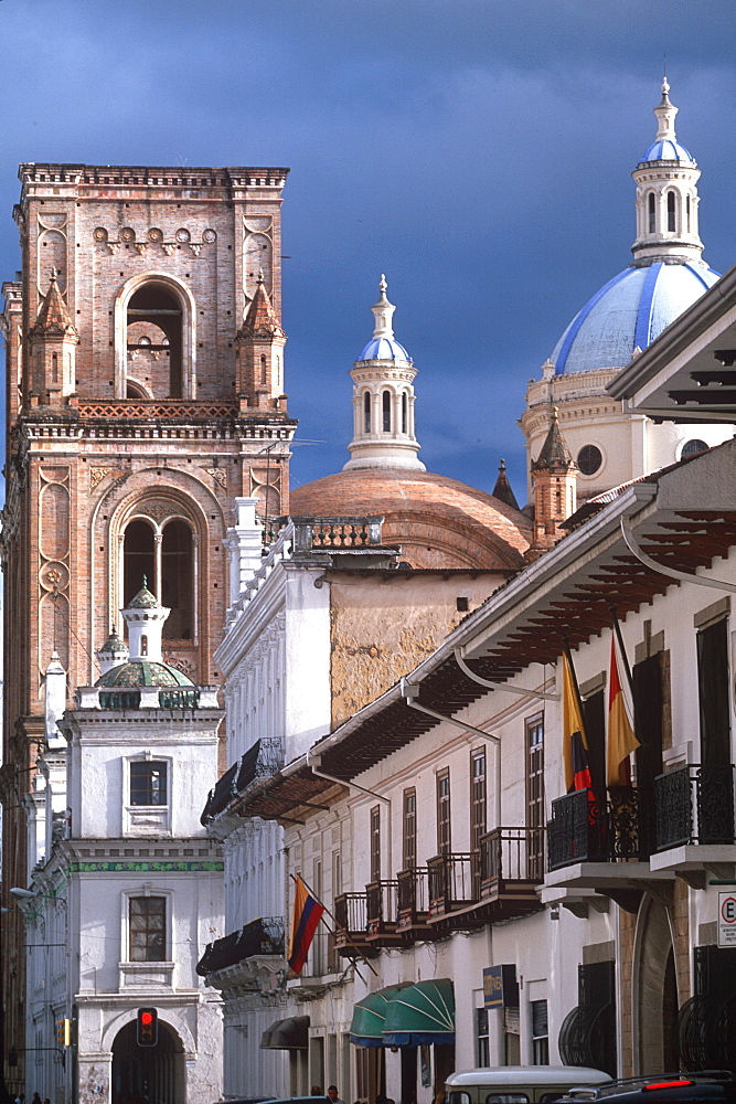
[[623,368],[717,280],[707,265],[670,264],[625,268],[586,302],[552,353],[559,375],[595,368]]

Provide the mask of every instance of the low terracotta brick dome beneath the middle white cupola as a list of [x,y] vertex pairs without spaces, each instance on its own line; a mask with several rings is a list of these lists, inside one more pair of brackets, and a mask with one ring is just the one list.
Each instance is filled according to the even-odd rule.
[[413,567],[515,570],[532,540],[519,510],[429,471],[363,468],[316,479],[290,493],[292,517],[383,514],[383,542]]

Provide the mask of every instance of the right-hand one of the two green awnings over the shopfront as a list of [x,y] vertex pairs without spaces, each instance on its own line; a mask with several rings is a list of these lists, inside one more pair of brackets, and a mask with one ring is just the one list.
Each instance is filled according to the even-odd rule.
[[449,978],[417,981],[395,992],[386,1009],[384,1047],[455,1042],[455,996]]

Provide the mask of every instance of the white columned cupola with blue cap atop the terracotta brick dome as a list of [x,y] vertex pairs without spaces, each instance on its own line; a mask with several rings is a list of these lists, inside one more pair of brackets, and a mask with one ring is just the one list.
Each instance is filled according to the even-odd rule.
[[386,298],[381,276],[378,301],[371,307],[373,337],[355,361],[353,381],[353,439],[343,470],[355,468],[413,468],[424,471],[414,435],[414,376],[417,373],[404,346],[394,337],[396,309]]

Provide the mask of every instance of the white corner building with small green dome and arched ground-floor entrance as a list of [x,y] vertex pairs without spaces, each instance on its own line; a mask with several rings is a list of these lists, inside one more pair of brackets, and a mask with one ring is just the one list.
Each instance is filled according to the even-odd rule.
[[[195,966],[222,931],[222,856],[198,816],[217,777],[222,711],[216,687],[163,662],[168,613],[147,588],[132,598],[129,658],[108,641],[102,677],[50,724],[38,761],[33,872],[12,892],[29,957],[26,1084],[60,1104],[220,1093],[222,1015]],[[57,662],[46,684],[63,705]],[[141,1007],[157,1018],[147,1047]]]

